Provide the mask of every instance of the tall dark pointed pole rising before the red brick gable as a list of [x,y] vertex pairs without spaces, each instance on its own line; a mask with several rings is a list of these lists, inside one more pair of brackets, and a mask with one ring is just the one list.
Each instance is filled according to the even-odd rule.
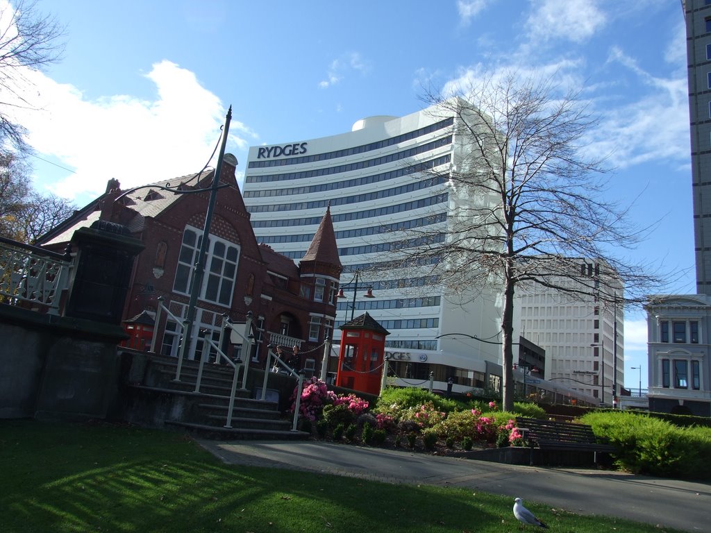
[[210,200],[208,200],[208,211],[205,213],[205,225],[203,226],[203,237],[200,243],[200,252],[198,262],[193,269],[193,279],[190,284],[190,301],[188,303],[188,314],[183,322],[183,345],[181,345],[181,354],[178,357],[178,369],[176,370],[176,379],[180,379],[181,365],[183,359],[188,355],[188,348],[192,344],[190,338],[193,322],[195,322],[196,304],[198,303],[198,294],[203,288],[203,276],[205,275],[205,261],[207,260],[207,252],[209,246],[210,225],[213,222],[213,211],[215,210],[215,200],[218,195],[218,185],[220,183],[220,175],[222,174],[223,158],[225,157],[225,146],[227,146],[227,138],[230,132],[230,121],[232,120],[232,106],[228,109],[227,117],[225,118],[225,128],[223,129],[223,139],[220,145],[220,155],[218,156],[217,168],[215,168],[215,176],[213,176],[213,186],[210,188]]

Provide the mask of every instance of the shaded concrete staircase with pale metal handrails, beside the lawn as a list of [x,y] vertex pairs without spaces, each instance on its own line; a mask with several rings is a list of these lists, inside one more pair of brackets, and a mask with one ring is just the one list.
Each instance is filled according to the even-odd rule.
[[[225,427],[234,375],[229,365],[205,364],[200,391],[195,392],[196,361],[183,361],[180,380],[176,381],[176,358],[127,350],[122,360],[124,367],[127,360],[130,362],[122,405],[126,421],[182,428],[202,438],[220,440],[309,437],[304,431],[292,431],[292,414],[282,414],[276,400],[254,399],[250,390],[239,388],[230,427]],[[237,387],[240,385],[241,381]]]

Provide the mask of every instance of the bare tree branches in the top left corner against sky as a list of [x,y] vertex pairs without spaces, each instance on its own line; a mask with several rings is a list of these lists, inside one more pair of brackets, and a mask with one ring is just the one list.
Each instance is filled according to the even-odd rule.
[[0,141],[28,150],[25,129],[9,113],[11,107],[32,108],[25,70],[43,70],[63,53],[64,29],[53,16],[41,14],[35,1],[0,4]]

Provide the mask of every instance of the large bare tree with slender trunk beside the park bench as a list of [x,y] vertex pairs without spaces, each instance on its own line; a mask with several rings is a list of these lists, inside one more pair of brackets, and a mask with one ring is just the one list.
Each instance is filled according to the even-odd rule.
[[[577,94],[548,81],[487,75],[464,97],[427,95],[454,115],[454,170],[445,225],[419,228],[427,246],[401,249],[403,264],[434,264],[445,289],[501,293],[503,409],[513,408],[515,288],[540,284],[573,298],[642,299],[658,278],[618,258],[643,237],[606,195],[604,160],[587,156],[595,120]],[[436,260],[433,260],[436,259]],[[593,270],[582,264],[595,265]],[[622,294],[622,287],[626,294]]]

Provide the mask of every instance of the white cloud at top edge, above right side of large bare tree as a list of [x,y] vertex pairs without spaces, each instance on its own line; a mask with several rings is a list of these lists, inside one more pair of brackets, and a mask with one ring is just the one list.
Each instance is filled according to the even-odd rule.
[[606,23],[592,0],[536,0],[526,28],[533,41],[562,39],[583,43]]

